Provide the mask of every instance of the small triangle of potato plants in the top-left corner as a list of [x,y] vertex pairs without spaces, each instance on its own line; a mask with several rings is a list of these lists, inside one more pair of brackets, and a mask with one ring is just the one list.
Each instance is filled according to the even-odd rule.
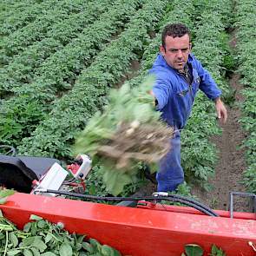
[[59,0],[45,0],[45,1],[16,1],[16,3],[0,3],[0,36],[8,36],[15,30],[26,26],[33,22],[36,16],[42,15],[45,11],[52,9],[53,6],[61,5]]

